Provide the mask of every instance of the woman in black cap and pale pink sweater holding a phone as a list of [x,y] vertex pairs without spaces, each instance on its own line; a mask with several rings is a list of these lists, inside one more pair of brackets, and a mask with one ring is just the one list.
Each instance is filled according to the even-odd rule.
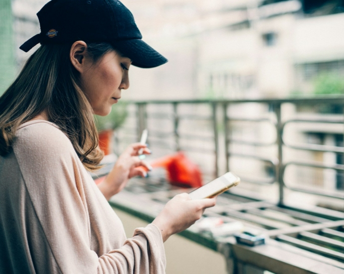
[[165,273],[163,242],[215,199],[177,195],[126,239],[107,199],[146,175],[149,149],[129,146],[99,188],[87,170],[103,157],[93,114],[109,114],[131,64],[167,59],[117,0],[52,0],[37,15],[41,33],[20,48],[41,46],[0,97],[0,273]]

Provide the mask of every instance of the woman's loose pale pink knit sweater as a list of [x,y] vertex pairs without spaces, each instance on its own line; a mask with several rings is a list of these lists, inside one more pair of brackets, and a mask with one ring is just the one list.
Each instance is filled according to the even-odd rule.
[[161,233],[127,239],[68,137],[43,120],[23,124],[0,156],[0,273],[164,274]]

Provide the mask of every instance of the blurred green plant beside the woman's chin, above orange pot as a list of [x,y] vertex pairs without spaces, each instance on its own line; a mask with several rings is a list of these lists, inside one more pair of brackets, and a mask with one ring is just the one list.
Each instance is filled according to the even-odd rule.
[[111,113],[107,116],[95,115],[95,121],[98,132],[103,130],[115,130],[123,125],[127,116],[127,103],[119,101],[112,106]]

